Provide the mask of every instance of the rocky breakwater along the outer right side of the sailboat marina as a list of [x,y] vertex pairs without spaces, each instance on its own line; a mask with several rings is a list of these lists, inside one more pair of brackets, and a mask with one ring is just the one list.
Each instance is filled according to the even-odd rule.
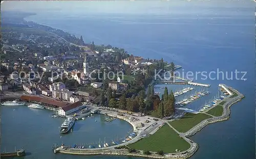
[[238,101],[242,100],[242,98],[244,98],[244,95],[239,93],[236,89],[233,89],[231,87],[229,87],[229,89],[233,90],[233,92],[235,92],[238,96],[231,98],[232,95],[230,95],[229,97],[227,97],[228,98],[227,102],[223,105],[222,116],[204,120],[199,125],[195,126],[193,129],[189,130],[185,134],[185,138],[189,138],[189,137],[193,136],[194,134],[196,134],[198,131],[200,131],[202,128],[204,128],[208,124],[221,122],[221,121],[227,120],[230,117],[230,106],[232,104],[237,103]]

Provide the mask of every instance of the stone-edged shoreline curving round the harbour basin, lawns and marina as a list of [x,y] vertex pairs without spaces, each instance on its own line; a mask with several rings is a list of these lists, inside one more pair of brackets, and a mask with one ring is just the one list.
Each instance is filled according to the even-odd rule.
[[[130,152],[128,152],[127,149],[114,149],[115,147],[124,146],[127,143],[130,143],[130,141],[126,142],[126,144],[122,143],[120,145],[108,147],[107,150],[104,149],[104,148],[100,148],[100,149],[98,149],[98,148],[97,149],[77,149],[76,150],[76,149],[73,149],[73,148],[68,149],[68,148],[62,148],[62,147],[59,147],[57,149],[60,153],[76,154],[76,155],[123,155],[123,156],[137,156],[137,157],[147,157],[147,158],[168,158],[168,159],[189,158],[189,157],[193,156],[197,152],[197,150],[199,149],[199,145],[197,143],[195,143],[194,141],[190,140],[189,137],[191,137],[191,136],[195,135],[197,132],[201,131],[208,124],[228,120],[230,118],[230,114],[231,114],[230,107],[233,104],[241,101],[244,98],[244,95],[239,93],[236,89],[233,89],[232,87],[228,87],[226,85],[224,85],[224,86],[231,89],[238,96],[234,97],[234,98],[231,98],[229,102],[227,102],[223,105],[223,115],[222,116],[205,119],[202,122],[200,122],[199,124],[197,124],[195,127],[191,128],[187,132],[183,133],[184,134],[183,139],[185,141],[187,141],[188,143],[190,142],[190,145],[191,145],[191,147],[189,149],[187,149],[186,151],[178,152],[178,153],[166,153],[164,155],[159,155],[156,152],[151,152],[152,153],[151,155],[146,155],[146,154],[141,153],[142,152],[141,150],[137,150],[136,152],[130,153]],[[232,95],[233,94],[229,95],[227,98],[230,98]],[[111,115],[109,113],[108,113],[108,116],[116,117],[116,118],[125,120],[126,122],[129,122],[133,126],[134,131],[138,132],[138,135],[136,137],[139,137],[139,134],[141,133],[141,130],[138,131],[133,122],[131,122],[130,120],[127,120],[125,118],[122,118],[121,116],[115,116],[115,115]],[[134,138],[134,140],[135,139],[136,138]],[[131,140],[131,141],[133,141],[133,140]],[[127,146],[129,147],[129,145],[127,145]]]

